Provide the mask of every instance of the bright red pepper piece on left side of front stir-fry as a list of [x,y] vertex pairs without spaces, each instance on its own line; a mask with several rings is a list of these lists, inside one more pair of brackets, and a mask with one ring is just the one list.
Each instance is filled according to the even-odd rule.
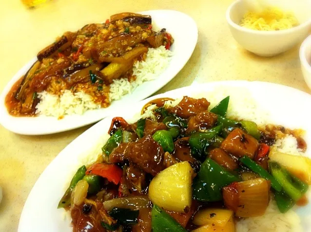
[[85,175],[93,174],[101,176],[114,184],[118,184],[122,173],[123,170],[115,164],[95,163],[86,170]]

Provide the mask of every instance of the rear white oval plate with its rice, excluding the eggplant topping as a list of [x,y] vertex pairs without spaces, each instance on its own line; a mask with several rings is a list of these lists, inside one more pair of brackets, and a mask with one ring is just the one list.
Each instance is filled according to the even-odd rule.
[[[25,74],[37,58],[20,69],[4,88],[0,96],[0,123],[18,134],[42,135],[66,131],[99,121],[118,107],[129,106],[165,86],[184,67],[192,55],[197,41],[197,26],[192,18],[172,10],[139,12],[151,15],[154,28],[166,28],[175,39],[170,51],[163,46],[149,49],[147,59],[134,66],[136,81],[116,80],[110,88],[107,108],[100,108],[83,92],[72,94],[65,90],[61,98],[42,92],[37,106],[37,117],[13,117],[4,104],[5,96],[19,78]],[[185,32],[185,28],[187,32]],[[124,96],[123,96],[124,95]],[[58,117],[64,115],[59,120]]]

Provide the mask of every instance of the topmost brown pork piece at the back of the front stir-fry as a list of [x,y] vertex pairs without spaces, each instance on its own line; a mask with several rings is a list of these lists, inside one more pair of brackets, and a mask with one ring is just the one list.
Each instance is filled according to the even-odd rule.
[[168,108],[168,111],[181,118],[190,118],[191,116],[207,110],[209,106],[210,103],[205,98],[194,99],[184,96],[177,106]]

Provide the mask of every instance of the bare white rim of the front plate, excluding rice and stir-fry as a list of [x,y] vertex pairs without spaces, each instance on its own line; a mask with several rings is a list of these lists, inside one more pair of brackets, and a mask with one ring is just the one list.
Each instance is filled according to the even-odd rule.
[[[306,142],[311,146],[311,95],[297,89],[265,82],[224,81],[175,89],[142,102],[123,108],[112,116],[122,116],[128,122],[133,121],[145,103],[158,97],[180,98],[184,95],[195,96],[197,93],[212,91],[219,87],[245,88],[254,101],[271,113],[271,119],[291,128],[303,128],[307,131]],[[64,220],[64,210],[57,209],[75,171],[81,164],[81,157],[92,153],[94,147],[102,146],[103,136],[107,135],[112,117],[107,117],[81,134],[70,143],[49,164],[31,190],[19,220],[19,232],[72,232],[70,220]],[[100,148],[99,148],[100,150]],[[308,149],[310,151],[311,149]],[[96,155],[96,154],[95,154]],[[298,214],[311,215],[311,204],[300,207]],[[310,220],[309,220],[310,221]],[[311,225],[305,225],[305,232]]]

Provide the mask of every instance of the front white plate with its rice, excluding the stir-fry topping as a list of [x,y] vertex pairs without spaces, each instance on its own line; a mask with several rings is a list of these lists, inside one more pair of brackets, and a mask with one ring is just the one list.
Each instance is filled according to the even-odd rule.
[[[258,125],[272,123],[291,129],[302,128],[307,132],[304,139],[310,147],[311,108],[307,106],[311,104],[311,96],[297,89],[265,82],[224,81],[175,89],[133,104],[113,116],[122,116],[129,123],[134,123],[140,117],[141,108],[151,99],[178,99],[184,95],[205,97],[211,102],[211,108],[230,95],[229,117],[252,120]],[[95,161],[101,154],[101,147],[109,138],[107,131],[111,120],[112,117],[107,117],[85,131],[45,169],[26,200],[19,232],[72,232],[71,219],[63,209],[57,209],[58,201],[77,168]],[[288,136],[278,141],[276,146],[282,152],[300,155],[294,137]],[[310,151],[308,148],[306,154]],[[236,232],[310,232],[310,219],[310,203],[281,214],[272,202],[265,215],[238,222]]]

